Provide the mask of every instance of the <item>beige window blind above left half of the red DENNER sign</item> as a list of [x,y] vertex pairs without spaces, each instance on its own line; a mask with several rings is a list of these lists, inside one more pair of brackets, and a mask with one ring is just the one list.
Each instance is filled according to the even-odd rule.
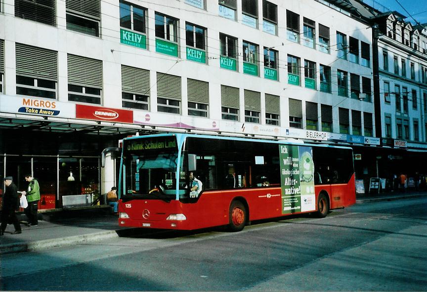
[[102,88],[102,61],[68,54],[68,83]]

